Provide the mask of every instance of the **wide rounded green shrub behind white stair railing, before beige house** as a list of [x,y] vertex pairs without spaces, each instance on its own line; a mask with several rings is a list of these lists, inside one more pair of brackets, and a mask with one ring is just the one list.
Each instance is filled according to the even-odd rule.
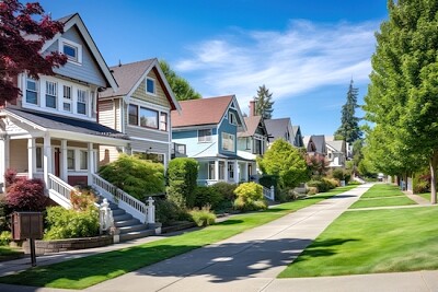
[[161,163],[122,154],[116,161],[102,166],[99,173],[141,201],[165,190],[164,166]]

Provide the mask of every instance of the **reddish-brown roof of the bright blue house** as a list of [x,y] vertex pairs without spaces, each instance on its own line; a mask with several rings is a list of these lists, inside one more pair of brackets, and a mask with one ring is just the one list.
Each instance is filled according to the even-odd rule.
[[234,95],[182,101],[181,114],[172,110],[172,128],[217,125],[221,121]]

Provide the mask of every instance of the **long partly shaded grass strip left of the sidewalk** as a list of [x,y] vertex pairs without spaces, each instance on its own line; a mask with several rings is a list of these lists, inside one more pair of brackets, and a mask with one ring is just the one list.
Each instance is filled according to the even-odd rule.
[[331,192],[304,200],[283,203],[264,212],[241,214],[203,230],[147,243],[125,249],[103,253],[28,269],[0,278],[1,283],[65,289],[84,289],[154,262],[226,240],[245,230],[270,222],[290,212],[309,207],[356,186],[336,188]]

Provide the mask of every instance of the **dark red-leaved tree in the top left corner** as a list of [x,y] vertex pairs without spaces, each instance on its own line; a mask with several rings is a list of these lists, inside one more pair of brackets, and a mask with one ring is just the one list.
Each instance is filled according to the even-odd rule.
[[53,75],[54,67],[67,62],[64,54],[41,54],[46,40],[62,31],[62,23],[51,21],[39,3],[0,1],[0,104],[11,102],[21,94],[14,82],[19,73],[27,72],[38,79],[38,74]]

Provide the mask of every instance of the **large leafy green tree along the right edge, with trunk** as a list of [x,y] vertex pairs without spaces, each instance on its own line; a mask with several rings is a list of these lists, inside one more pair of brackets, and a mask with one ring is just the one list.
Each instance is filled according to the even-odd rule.
[[376,125],[370,139],[388,143],[374,142],[371,153],[391,154],[391,165],[407,172],[427,160],[436,203],[438,0],[390,0],[388,9],[390,17],[376,34],[365,107],[367,119]]

